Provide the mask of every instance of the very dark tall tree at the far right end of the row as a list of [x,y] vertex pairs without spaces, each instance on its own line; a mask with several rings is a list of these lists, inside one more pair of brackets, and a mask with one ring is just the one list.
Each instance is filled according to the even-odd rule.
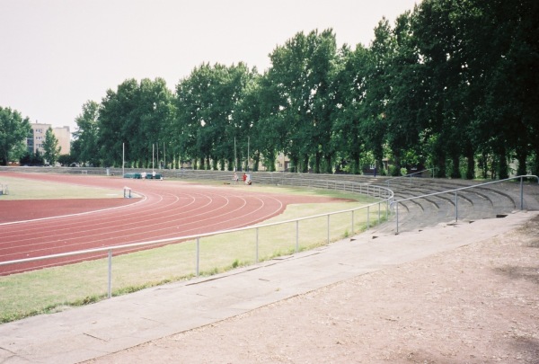
[[519,174],[535,154],[539,172],[539,3],[534,0],[472,2],[481,13],[472,33],[474,42],[488,44],[473,55],[485,75],[484,99],[477,129],[482,142],[496,155],[499,178],[508,176],[508,158],[517,158]]

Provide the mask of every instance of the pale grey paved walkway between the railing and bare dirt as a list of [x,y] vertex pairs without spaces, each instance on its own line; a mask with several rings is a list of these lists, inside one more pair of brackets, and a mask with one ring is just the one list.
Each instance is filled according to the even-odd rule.
[[323,248],[172,283],[53,315],[0,325],[1,363],[76,363],[239,315],[279,300],[482,241],[539,212],[441,224],[401,235],[354,236]]

